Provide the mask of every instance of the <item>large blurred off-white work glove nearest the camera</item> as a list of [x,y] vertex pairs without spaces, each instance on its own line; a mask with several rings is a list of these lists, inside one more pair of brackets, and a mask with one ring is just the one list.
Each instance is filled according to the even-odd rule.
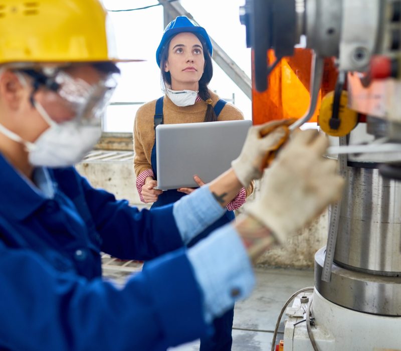
[[322,157],[327,146],[316,130],[294,133],[268,168],[259,200],[245,207],[281,244],[341,196],[336,161]]

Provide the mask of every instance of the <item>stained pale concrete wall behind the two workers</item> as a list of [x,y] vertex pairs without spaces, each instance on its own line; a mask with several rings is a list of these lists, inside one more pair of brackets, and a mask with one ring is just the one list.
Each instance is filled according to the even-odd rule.
[[[117,199],[127,199],[131,205],[140,208],[149,207],[140,202],[135,187],[135,174],[132,159],[127,161],[90,161],[77,165],[78,171],[95,188],[102,188],[113,193]],[[248,199],[254,201],[259,195],[259,182],[255,193]],[[241,209],[238,211],[241,213]],[[289,219],[290,220],[290,219]],[[262,266],[313,267],[314,254],[327,240],[327,212],[315,220],[309,228],[291,238],[283,247],[272,247],[259,260]]]

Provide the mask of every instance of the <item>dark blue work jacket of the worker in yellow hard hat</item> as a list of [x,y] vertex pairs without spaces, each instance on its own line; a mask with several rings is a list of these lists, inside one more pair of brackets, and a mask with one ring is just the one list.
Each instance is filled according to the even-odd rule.
[[[210,332],[172,206],[139,212],[74,168],[49,169],[46,199],[2,155],[0,169],[0,349],[164,350]],[[119,289],[100,251],[162,256]]]

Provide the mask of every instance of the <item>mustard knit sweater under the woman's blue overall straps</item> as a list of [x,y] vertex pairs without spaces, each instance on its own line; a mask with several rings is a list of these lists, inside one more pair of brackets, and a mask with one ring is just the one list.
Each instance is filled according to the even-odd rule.
[[[209,90],[213,100],[213,106],[219,101],[219,96]],[[154,144],[154,111],[156,100],[147,102],[142,105],[136,115],[134,121],[134,170],[136,176],[146,169],[151,169],[150,156]],[[194,105],[179,107],[175,105],[167,95],[163,100],[163,123],[192,123],[203,122],[205,119],[207,104],[205,101],[197,101]],[[244,119],[242,112],[232,104],[227,103],[220,112],[219,121],[230,121]],[[253,192],[253,183],[247,191],[247,196]]]

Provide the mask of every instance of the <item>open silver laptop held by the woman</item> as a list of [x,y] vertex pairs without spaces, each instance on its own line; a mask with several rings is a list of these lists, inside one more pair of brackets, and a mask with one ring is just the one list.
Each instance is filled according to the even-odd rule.
[[157,188],[196,188],[231,167],[241,153],[250,120],[160,124],[156,127]]

